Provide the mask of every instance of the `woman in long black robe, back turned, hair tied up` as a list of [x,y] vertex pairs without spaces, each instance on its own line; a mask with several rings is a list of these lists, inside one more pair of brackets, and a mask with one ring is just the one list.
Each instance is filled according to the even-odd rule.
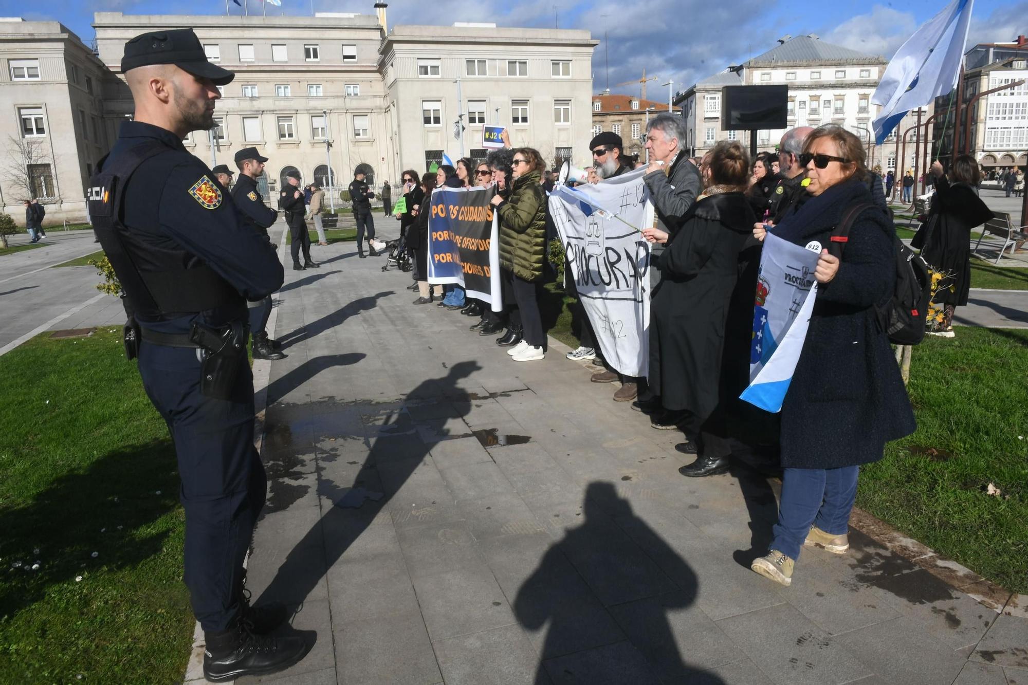
[[651,304],[648,377],[660,397],[664,423],[681,425],[689,437],[675,449],[698,455],[678,469],[686,476],[724,473],[729,467],[732,450],[724,427],[708,420],[720,401],[725,323],[739,253],[755,221],[744,194],[748,177],[745,148],[736,141],[718,143],[704,165],[706,187],[681,228],[673,235],[642,231],[647,240],[666,244]]

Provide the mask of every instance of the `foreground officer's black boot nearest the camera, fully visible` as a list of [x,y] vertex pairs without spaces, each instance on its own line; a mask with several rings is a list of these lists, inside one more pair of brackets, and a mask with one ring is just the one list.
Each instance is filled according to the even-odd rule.
[[204,677],[215,683],[288,669],[310,649],[299,635],[260,636],[241,618],[227,630],[205,633],[204,639]]

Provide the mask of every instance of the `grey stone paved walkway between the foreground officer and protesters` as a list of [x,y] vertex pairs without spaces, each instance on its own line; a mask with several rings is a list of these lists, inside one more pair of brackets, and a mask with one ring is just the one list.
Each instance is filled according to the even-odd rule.
[[977,602],[974,574],[853,532],[780,587],[747,568],[766,478],[684,478],[681,435],[563,346],[519,364],[383,259],[315,254],[280,295],[248,572],[315,645],[240,682],[1028,683],[1028,611]]

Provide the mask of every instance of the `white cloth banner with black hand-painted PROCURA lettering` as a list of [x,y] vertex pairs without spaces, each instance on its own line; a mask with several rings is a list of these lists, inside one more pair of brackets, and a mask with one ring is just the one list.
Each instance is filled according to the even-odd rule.
[[625,375],[645,376],[650,361],[650,244],[653,225],[645,170],[550,193],[579,299],[603,359]]

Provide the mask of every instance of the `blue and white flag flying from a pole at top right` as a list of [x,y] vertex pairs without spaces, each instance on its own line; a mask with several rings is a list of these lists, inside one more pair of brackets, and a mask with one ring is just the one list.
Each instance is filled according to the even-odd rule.
[[892,56],[871,96],[871,102],[882,106],[873,124],[879,145],[907,112],[956,87],[974,4],[953,0]]

